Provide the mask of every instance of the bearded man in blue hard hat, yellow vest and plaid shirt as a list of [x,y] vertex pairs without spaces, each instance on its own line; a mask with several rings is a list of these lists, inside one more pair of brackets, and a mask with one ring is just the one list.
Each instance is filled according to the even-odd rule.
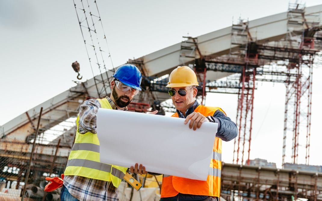
[[[96,114],[99,108],[127,110],[133,97],[142,90],[142,75],[136,66],[126,64],[118,67],[113,77],[110,97],[89,99],[80,106],[75,143],[64,172],[61,200],[118,200],[117,188],[128,168],[99,162]],[[142,164],[135,164],[130,171],[147,173]]]

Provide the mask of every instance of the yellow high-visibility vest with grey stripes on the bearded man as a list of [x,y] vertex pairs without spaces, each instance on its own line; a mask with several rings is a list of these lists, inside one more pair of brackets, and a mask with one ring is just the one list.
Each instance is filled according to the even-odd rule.
[[[106,98],[97,100],[101,108],[112,109]],[[78,133],[79,119],[78,115],[75,143],[69,154],[64,175],[112,181],[113,186],[118,187],[128,168],[99,162],[99,138],[97,134],[90,132]]]

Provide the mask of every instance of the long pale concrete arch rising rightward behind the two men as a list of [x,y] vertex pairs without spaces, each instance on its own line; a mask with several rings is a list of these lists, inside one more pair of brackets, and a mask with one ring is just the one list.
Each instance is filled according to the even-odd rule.
[[[290,32],[287,24],[288,13],[289,12],[279,13],[249,21],[249,35],[256,38],[258,43],[279,41]],[[322,4],[305,8],[305,15],[314,15],[319,18],[320,20],[317,22],[317,26],[321,26]],[[298,22],[296,24],[295,22],[294,29],[291,30],[291,32],[295,35],[301,34],[304,29],[305,23]],[[204,56],[223,56],[228,54],[231,48],[238,46],[232,45],[232,35],[232,27],[213,31],[198,36],[196,38],[197,46]],[[188,42],[191,47],[194,46],[192,39],[188,39],[185,42]],[[137,60],[142,61],[148,76],[161,77],[169,74],[175,67],[181,66],[184,63],[189,63],[195,60],[195,58],[199,58],[198,54],[195,54],[193,58],[182,58],[181,46],[182,42],[179,42],[175,45],[137,58]],[[210,80],[217,80],[230,74],[232,73],[208,71],[207,78]],[[109,71],[108,76],[111,77],[111,75],[112,71]],[[104,79],[107,79],[105,73],[103,73],[102,76]],[[100,78],[101,75],[97,75],[96,77]],[[110,93],[110,91],[108,91],[108,93]],[[165,96],[162,93],[153,93],[156,93],[161,100],[165,100],[167,98],[167,95]],[[11,141],[25,142],[27,137],[35,132],[34,125],[37,125],[36,121],[41,107],[43,107],[41,132],[44,132],[70,117],[75,117],[78,113],[79,104],[88,97],[96,97],[96,94],[94,78],[87,80],[84,83],[78,83],[77,86],[52,97],[40,105],[28,110],[26,113],[23,113],[5,123],[1,126],[2,130],[0,129],[0,137],[8,137]]]

